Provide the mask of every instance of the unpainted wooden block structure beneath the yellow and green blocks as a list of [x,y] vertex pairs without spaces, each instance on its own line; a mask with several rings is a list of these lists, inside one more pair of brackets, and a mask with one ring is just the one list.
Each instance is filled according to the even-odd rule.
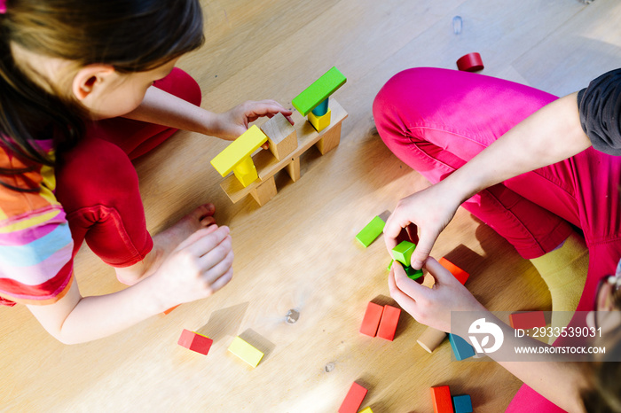
[[[226,176],[224,181],[220,183],[220,187],[229,199],[233,203],[237,203],[249,194],[259,206],[263,206],[277,193],[274,175],[279,171],[285,169],[293,182],[300,179],[300,156],[304,152],[315,145],[318,151],[324,155],[334,149],[341,141],[341,124],[347,118],[347,112],[335,99],[330,99],[330,110],[332,112],[332,121],[321,132],[315,130],[310,123],[304,120],[302,114],[298,112],[294,112],[292,115],[295,126],[289,124],[291,128],[288,128],[284,123],[287,119],[284,117],[281,119],[278,115],[263,124],[261,128],[263,133],[267,136],[267,140],[271,139],[273,141],[273,144],[272,142],[270,143],[270,151],[259,151],[251,158],[258,179],[255,179],[255,181],[248,185],[244,185],[235,175]],[[271,134],[274,136],[271,136]],[[294,137],[289,137],[291,135],[294,135]],[[288,152],[294,146],[292,144],[292,139],[294,138],[296,139],[295,149],[293,152]],[[272,151],[275,151],[275,153]]]

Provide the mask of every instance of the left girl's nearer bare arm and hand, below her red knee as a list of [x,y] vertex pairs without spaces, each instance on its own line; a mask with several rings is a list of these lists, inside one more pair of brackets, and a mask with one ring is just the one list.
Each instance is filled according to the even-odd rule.
[[227,227],[211,225],[185,239],[151,277],[112,294],[82,297],[74,281],[59,301],[28,309],[43,328],[65,344],[122,331],[177,304],[213,294],[232,278]]

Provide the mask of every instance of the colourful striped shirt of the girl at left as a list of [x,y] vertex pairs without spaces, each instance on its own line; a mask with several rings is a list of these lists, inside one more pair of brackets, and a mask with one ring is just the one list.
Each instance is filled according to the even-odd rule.
[[[39,142],[51,155],[51,142]],[[0,168],[24,164],[0,146]],[[54,195],[53,168],[25,176],[2,176],[19,192],[0,185],[0,304],[51,304],[60,300],[73,277],[73,240],[65,211]]]

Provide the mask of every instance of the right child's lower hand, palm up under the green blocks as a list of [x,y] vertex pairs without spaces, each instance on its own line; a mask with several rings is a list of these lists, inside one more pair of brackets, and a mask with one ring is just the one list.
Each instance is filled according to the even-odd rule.
[[468,289],[432,257],[427,259],[425,269],[436,279],[432,288],[408,278],[397,261],[389,274],[390,296],[416,321],[451,332],[451,311],[485,310]]

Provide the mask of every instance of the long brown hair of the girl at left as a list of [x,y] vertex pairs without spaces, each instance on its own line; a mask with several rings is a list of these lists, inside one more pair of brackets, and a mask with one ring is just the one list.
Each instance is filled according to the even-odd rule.
[[[79,66],[103,63],[132,73],[161,66],[203,42],[198,0],[6,0],[0,14],[0,144],[33,167],[0,168],[0,175],[53,165],[36,141],[53,137],[62,148],[84,132],[80,106],[43,90],[20,70],[11,43]],[[32,191],[2,179],[0,184]]]

